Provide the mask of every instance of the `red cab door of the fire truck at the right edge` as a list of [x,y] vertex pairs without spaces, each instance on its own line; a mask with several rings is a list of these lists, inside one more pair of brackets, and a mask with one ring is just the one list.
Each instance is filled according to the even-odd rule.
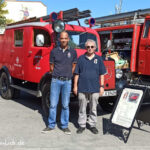
[[139,47],[138,72],[150,74],[150,20],[145,21]]

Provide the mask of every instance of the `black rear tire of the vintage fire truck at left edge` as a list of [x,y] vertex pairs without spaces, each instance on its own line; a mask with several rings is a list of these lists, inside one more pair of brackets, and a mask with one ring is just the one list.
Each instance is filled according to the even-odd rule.
[[2,72],[0,77],[0,93],[2,98],[7,100],[12,99],[14,93],[14,89],[10,87],[10,81],[5,72]]

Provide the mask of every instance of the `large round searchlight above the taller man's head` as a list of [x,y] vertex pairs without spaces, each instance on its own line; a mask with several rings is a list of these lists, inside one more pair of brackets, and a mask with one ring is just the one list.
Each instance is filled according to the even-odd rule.
[[64,31],[65,23],[61,20],[56,20],[53,22],[53,30],[57,33]]

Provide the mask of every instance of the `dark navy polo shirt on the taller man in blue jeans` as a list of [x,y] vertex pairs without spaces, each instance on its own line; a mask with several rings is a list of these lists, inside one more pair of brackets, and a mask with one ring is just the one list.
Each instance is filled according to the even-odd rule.
[[72,64],[77,63],[77,53],[68,48],[63,51],[60,47],[50,53],[50,63],[54,64],[52,76],[72,78]]

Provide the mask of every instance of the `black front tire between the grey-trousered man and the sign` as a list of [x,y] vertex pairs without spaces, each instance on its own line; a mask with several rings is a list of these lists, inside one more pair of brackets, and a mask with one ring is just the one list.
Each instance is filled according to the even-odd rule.
[[111,113],[115,105],[115,100],[116,97],[102,97],[99,99],[99,105],[104,111]]

